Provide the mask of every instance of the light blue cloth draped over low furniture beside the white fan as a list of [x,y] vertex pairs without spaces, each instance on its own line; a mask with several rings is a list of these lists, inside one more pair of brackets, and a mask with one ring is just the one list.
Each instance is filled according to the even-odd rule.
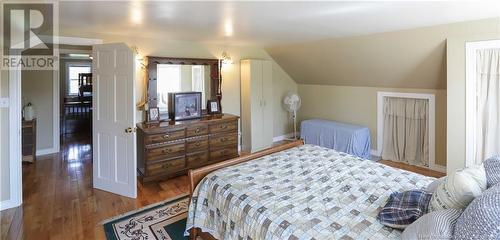
[[371,159],[370,129],[364,126],[321,119],[302,121],[300,137],[319,145],[365,159]]

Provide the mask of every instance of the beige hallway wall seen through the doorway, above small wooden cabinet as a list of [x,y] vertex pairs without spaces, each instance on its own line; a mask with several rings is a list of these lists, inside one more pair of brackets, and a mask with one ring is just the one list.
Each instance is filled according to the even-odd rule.
[[53,74],[58,72],[29,70],[21,72],[23,104],[31,102],[37,118],[37,150],[54,147]]

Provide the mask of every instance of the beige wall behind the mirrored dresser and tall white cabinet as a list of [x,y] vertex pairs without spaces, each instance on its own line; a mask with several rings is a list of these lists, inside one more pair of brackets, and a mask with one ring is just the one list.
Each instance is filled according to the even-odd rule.
[[[62,30],[64,33],[65,31]],[[129,46],[137,46],[142,56],[164,56],[185,58],[220,58],[222,51],[227,51],[233,59],[233,64],[222,69],[222,109],[225,113],[240,115],[240,59],[267,59],[272,58],[267,52],[258,47],[222,46],[197,42],[166,42],[161,39],[120,37],[120,36],[81,36],[78,33],[64,33],[66,36],[103,39],[105,43],[125,42]],[[281,106],[282,96],[286,92],[297,91],[297,84],[281,67],[273,61],[273,91],[274,99],[274,136],[281,136],[292,131],[287,112]],[[142,92],[142,94],[141,94]],[[144,91],[138,93],[138,99],[145,99]]]

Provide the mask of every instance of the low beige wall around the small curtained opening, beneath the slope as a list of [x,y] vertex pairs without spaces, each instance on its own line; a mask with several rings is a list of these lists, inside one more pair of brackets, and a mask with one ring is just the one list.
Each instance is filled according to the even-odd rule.
[[299,84],[302,107],[299,120],[321,118],[370,128],[377,148],[377,92],[431,93],[436,96],[436,163],[446,165],[446,91]]

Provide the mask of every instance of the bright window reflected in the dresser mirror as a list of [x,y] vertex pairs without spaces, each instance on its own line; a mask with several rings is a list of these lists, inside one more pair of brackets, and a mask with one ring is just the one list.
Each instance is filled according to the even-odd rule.
[[181,91],[181,68],[179,65],[158,64],[156,92],[160,112],[167,112],[168,93]]

